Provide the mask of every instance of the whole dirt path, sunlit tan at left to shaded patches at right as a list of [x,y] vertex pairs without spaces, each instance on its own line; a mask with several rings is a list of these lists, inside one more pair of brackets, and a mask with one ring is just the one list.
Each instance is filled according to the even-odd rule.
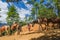
[[[58,36],[60,36],[60,30],[54,30],[57,31],[56,33],[58,34]],[[53,32],[53,34],[51,34],[50,32],[46,32],[47,35],[55,35],[55,32]],[[38,38],[41,36],[46,35],[44,32],[43,33],[34,33],[34,32],[24,32],[21,33],[21,35],[11,35],[11,36],[3,36],[0,37],[0,40],[30,40],[31,38]]]

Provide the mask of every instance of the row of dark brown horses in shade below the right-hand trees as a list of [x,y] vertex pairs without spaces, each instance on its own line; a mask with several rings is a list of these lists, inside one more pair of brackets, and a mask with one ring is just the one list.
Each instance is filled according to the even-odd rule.
[[49,29],[59,29],[60,28],[60,18],[59,17],[51,17],[51,18],[38,18],[32,22],[32,27],[34,24],[39,24],[39,30],[49,30]]

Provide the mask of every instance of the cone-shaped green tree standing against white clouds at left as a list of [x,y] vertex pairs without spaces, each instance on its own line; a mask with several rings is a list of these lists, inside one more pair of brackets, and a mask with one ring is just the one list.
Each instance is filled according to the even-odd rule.
[[7,23],[11,25],[14,21],[19,22],[19,14],[17,13],[17,10],[14,5],[10,6],[8,8],[7,12]]

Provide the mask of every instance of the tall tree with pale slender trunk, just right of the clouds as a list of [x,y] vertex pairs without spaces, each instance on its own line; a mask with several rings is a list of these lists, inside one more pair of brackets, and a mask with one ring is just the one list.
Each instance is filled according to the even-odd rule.
[[39,7],[37,0],[30,0],[27,3],[33,5],[33,8],[31,10],[32,11],[31,16],[33,17],[33,20],[37,19],[38,7]]

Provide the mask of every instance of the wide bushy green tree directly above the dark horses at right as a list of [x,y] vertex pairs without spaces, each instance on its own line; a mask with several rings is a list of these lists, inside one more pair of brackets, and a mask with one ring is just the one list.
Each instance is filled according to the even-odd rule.
[[[43,5],[43,2],[40,2],[39,5],[39,10],[38,10],[38,17],[56,17],[56,12],[54,12],[54,6],[51,5],[51,0],[46,0],[48,1],[47,4]],[[50,3],[51,2],[51,3]]]

